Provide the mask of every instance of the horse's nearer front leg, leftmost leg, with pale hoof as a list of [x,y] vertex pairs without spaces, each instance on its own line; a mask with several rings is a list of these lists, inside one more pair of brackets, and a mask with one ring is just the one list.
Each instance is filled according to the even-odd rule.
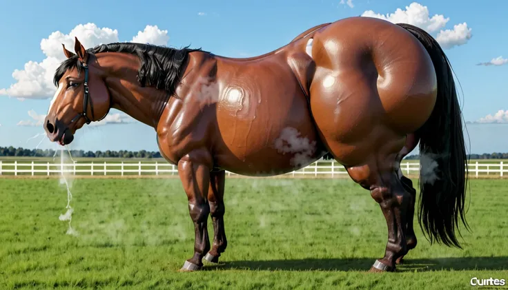
[[210,205],[206,196],[210,185],[208,154],[197,152],[184,156],[178,162],[178,174],[188,198],[190,218],[194,222],[194,256],[185,261],[181,271],[195,271],[203,266],[202,258],[210,250],[206,222],[210,214]]

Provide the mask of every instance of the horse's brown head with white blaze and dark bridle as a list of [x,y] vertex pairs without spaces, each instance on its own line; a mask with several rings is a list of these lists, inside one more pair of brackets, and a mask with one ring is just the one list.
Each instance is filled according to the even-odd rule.
[[87,52],[77,40],[76,54],[65,46],[66,61],[55,72],[57,92],[53,97],[43,127],[52,142],[67,145],[76,130],[106,117],[110,109],[110,94],[106,75],[94,54]]

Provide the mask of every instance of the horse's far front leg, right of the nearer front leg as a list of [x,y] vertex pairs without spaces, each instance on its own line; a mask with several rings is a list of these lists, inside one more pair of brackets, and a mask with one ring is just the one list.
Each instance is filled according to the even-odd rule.
[[212,249],[204,257],[208,262],[219,262],[221,253],[224,253],[228,245],[226,232],[224,231],[224,182],[226,173],[224,170],[210,173],[210,188],[208,189],[208,204],[213,222]]

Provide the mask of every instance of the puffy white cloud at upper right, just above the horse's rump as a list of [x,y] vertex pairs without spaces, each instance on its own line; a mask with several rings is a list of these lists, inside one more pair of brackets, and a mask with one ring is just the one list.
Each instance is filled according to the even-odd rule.
[[362,16],[384,19],[392,23],[408,23],[422,28],[430,34],[439,31],[436,36],[436,41],[438,41],[443,49],[464,45],[473,36],[471,28],[468,28],[465,22],[453,25],[453,29],[451,30],[442,30],[450,19],[444,17],[442,14],[434,14],[431,16],[429,8],[417,2],[409,4],[409,6],[406,6],[405,10],[398,8],[395,12],[390,14],[384,15],[368,10],[363,12]]

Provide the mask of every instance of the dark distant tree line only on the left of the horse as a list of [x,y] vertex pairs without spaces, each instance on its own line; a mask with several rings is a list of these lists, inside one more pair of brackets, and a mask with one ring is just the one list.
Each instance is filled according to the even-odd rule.
[[[160,158],[160,152],[149,152],[146,150],[141,151],[84,151],[84,150],[70,150],[72,157],[89,157],[89,158]],[[52,157],[55,156],[53,149],[24,149],[21,147],[14,148],[0,147],[0,156],[26,156],[26,157]]]

